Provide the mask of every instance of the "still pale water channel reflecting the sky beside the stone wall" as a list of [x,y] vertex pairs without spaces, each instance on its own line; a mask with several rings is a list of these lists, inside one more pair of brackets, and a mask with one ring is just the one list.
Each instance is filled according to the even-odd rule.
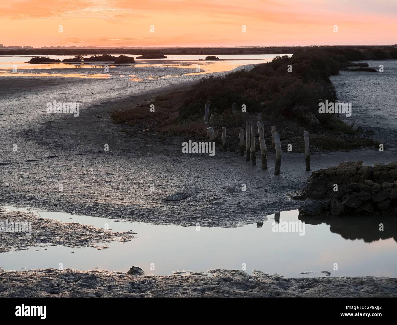
[[[37,214],[100,228],[108,223],[112,231],[133,230],[137,235],[124,244],[106,243],[109,247],[106,250],[48,246],[47,250],[33,247],[8,252],[1,255],[4,269],[58,267],[62,262],[64,267],[82,270],[98,267],[127,271],[135,265],[147,274],[167,275],[175,270],[241,269],[245,263],[248,272],[259,269],[287,277],[323,276],[320,271],[330,271],[336,277],[397,276],[397,221],[391,218],[364,218],[362,225],[360,217],[337,218],[330,225],[309,221],[314,224],[305,223],[305,235],[299,236],[299,233],[274,233],[275,215],[264,216],[262,227],[256,224],[237,228],[201,227],[197,231],[196,227],[115,222],[58,212]],[[279,222],[283,221],[297,221],[297,211],[281,212]],[[385,224],[384,233],[378,229],[380,222]],[[354,229],[353,224],[358,227]],[[346,236],[351,239],[343,238]],[[154,271],[150,271],[150,263],[155,264]],[[338,264],[337,271],[333,270],[334,263]],[[301,271],[312,273],[299,274]]]

